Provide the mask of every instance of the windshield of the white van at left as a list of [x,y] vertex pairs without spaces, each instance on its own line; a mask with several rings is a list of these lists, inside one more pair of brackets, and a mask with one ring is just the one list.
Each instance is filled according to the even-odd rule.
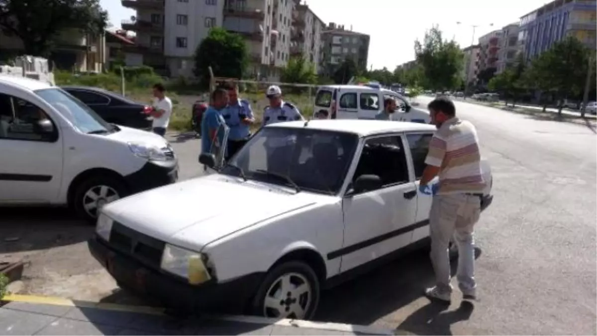
[[56,108],[83,133],[109,133],[115,127],[106,123],[87,105],[60,88],[44,88],[35,93]]

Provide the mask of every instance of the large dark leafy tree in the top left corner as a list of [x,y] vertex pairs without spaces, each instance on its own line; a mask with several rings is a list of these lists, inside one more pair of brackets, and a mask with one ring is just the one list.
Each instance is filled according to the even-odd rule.
[[107,12],[99,0],[0,0],[0,29],[23,41],[24,52],[48,57],[65,29],[101,33]]

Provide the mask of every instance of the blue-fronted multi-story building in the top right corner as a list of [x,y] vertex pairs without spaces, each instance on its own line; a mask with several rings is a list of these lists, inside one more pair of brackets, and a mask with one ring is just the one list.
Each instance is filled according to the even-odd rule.
[[556,0],[521,17],[518,40],[527,61],[567,36],[597,47],[597,1]]

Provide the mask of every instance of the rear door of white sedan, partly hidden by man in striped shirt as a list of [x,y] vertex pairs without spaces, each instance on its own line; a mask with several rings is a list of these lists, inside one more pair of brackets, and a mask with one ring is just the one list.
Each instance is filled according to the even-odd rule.
[[[425,159],[427,152],[429,152],[429,143],[433,138],[433,133],[407,133],[406,139],[408,142],[408,152],[410,154],[410,162],[413,165],[415,184],[417,186],[423,176],[425,169]],[[438,183],[438,178],[432,180],[430,184]],[[413,243],[429,236],[429,211],[431,210],[432,195],[430,188],[426,193],[417,193],[417,215],[415,219],[416,230],[413,232]]]

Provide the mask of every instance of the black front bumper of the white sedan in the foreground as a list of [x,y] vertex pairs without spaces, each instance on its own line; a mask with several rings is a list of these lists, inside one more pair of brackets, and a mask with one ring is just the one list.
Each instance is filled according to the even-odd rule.
[[124,255],[99,237],[87,242],[89,251],[127,291],[152,298],[165,307],[183,311],[224,311],[244,313],[264,273],[252,273],[226,283],[215,281],[202,285],[190,285],[179,277],[155,270],[140,261]]

